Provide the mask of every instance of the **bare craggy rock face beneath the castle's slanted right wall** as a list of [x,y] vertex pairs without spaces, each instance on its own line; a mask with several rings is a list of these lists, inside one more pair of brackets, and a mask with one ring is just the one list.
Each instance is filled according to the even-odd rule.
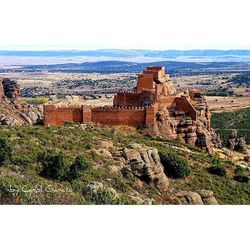
[[210,128],[210,112],[206,102],[194,102],[197,120],[193,120],[176,106],[160,106],[156,125],[152,128],[153,134],[179,140],[212,153],[214,147],[221,147],[220,137]]

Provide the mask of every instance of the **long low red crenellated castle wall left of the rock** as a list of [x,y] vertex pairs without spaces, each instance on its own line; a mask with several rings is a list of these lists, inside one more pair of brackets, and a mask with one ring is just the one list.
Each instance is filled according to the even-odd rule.
[[139,128],[155,123],[158,105],[150,107],[60,107],[44,106],[44,125],[60,126],[66,122],[100,123],[110,126],[131,126]]

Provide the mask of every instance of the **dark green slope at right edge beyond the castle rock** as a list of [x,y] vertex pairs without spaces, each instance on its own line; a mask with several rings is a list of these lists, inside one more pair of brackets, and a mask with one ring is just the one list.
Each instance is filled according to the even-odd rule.
[[237,129],[238,136],[245,137],[247,144],[250,144],[250,108],[234,112],[212,113],[211,122],[224,143],[228,140],[232,130]]

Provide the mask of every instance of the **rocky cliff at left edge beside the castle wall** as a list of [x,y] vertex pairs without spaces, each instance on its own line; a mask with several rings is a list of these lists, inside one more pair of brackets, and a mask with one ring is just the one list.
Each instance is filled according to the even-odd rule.
[[24,102],[20,87],[8,78],[0,78],[0,125],[35,124],[42,110]]

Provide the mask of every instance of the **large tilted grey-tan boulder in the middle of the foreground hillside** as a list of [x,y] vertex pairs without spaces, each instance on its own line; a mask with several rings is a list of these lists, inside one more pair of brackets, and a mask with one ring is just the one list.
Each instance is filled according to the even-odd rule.
[[169,181],[164,173],[157,149],[132,144],[129,148],[123,149],[123,157],[127,163],[122,169],[125,175],[132,173],[161,192],[168,190]]

